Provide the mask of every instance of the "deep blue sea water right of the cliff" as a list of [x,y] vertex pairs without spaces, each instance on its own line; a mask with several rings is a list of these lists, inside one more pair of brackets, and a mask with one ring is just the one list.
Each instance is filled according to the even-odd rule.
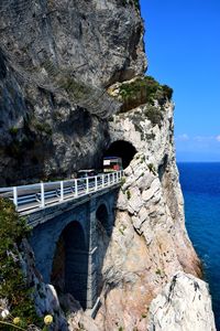
[[204,261],[220,331],[220,163],[178,163],[186,227]]

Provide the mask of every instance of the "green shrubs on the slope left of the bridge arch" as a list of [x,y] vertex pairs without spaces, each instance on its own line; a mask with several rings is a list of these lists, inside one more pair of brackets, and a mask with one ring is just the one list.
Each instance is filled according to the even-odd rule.
[[[31,298],[32,289],[26,285],[18,250],[28,233],[25,220],[19,218],[13,203],[0,197],[0,299],[8,299],[10,317],[18,317],[22,328],[33,323],[40,324]],[[13,329],[6,324],[3,328]]]

